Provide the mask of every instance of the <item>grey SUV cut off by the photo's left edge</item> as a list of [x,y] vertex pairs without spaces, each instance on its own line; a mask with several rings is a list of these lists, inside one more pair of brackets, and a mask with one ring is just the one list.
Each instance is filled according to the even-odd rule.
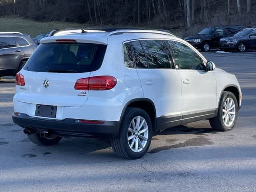
[[29,35],[0,32],[0,78],[19,72],[35,49]]

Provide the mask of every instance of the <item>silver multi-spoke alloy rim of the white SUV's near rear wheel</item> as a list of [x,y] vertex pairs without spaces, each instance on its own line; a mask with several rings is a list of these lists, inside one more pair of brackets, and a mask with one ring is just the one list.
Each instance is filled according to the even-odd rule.
[[142,116],[136,116],[130,122],[127,140],[133,152],[140,152],[148,141],[148,124]]

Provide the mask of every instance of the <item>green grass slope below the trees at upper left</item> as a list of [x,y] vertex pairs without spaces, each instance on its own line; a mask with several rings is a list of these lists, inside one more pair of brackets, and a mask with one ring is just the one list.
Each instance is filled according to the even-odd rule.
[[49,33],[54,29],[87,28],[86,24],[70,22],[38,22],[20,17],[0,17],[0,32],[15,31],[29,34],[32,38],[38,34]]

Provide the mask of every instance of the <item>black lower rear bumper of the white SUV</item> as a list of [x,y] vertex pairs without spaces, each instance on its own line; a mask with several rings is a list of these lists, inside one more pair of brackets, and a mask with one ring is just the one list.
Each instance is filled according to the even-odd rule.
[[94,137],[112,139],[119,134],[119,121],[104,121],[103,124],[75,122],[75,119],[52,120],[36,118],[27,114],[12,115],[15,124],[34,132],[47,131],[62,137]]

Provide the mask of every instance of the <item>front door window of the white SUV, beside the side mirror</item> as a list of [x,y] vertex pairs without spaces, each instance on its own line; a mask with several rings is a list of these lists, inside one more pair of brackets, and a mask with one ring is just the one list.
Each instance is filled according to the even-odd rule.
[[177,69],[190,69],[190,70],[205,70],[206,67],[202,58],[187,45],[176,42],[168,41],[170,48],[174,54]]

